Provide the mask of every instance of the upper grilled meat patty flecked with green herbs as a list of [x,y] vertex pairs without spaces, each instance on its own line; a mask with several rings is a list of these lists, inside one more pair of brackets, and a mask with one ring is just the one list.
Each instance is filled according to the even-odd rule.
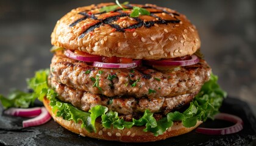
[[[134,69],[95,68],[82,61],[55,54],[51,63],[52,78],[69,88],[107,97],[176,97],[198,92],[210,78],[211,69],[204,60],[184,66],[179,71],[160,72]],[[149,92],[154,91],[154,92]]]

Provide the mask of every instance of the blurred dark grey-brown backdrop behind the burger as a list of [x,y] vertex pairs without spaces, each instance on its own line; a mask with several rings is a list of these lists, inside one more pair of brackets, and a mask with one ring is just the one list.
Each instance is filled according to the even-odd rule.
[[[25,78],[48,68],[50,35],[60,17],[98,2],[106,1],[0,0],[0,93],[7,95],[14,87],[25,89]],[[130,2],[154,3],[187,15],[199,30],[205,60],[222,88],[256,111],[255,0]]]

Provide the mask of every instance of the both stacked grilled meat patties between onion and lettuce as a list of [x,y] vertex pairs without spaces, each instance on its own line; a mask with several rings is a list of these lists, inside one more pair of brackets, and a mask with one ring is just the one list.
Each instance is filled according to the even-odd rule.
[[123,115],[144,113],[146,109],[166,114],[190,103],[209,80],[210,72],[204,60],[179,71],[160,72],[145,66],[95,68],[55,54],[49,84],[60,100],[84,111],[104,105]]

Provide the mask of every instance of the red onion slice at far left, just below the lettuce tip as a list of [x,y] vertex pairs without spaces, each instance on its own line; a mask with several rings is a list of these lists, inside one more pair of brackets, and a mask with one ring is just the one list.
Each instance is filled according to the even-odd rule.
[[41,108],[9,108],[4,111],[4,114],[18,117],[35,117],[41,114]]

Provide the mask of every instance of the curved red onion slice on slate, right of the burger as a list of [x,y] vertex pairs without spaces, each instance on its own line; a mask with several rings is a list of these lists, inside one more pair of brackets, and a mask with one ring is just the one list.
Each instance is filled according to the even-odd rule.
[[229,122],[235,123],[235,125],[226,128],[197,128],[197,133],[209,134],[209,135],[224,135],[237,133],[243,130],[243,120],[232,114],[219,113],[216,114],[215,119],[227,120]]

